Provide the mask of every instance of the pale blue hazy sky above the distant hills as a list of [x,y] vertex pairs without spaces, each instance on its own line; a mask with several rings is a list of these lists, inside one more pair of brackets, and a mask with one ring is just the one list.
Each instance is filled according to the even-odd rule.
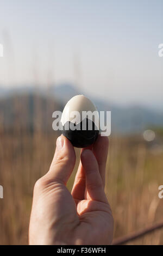
[[163,108],[162,0],[0,0],[0,86],[72,83]]

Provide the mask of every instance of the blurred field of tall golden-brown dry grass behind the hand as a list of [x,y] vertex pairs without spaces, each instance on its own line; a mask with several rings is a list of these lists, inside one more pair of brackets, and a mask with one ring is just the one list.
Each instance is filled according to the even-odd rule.
[[[28,243],[33,187],[49,168],[58,136],[52,130],[41,129],[39,105],[35,108],[34,129],[24,129],[29,102],[19,103],[16,101],[13,105],[17,115],[12,130],[3,126],[2,113],[0,120],[0,185],[4,187],[4,199],[0,199],[1,245]],[[53,104],[47,111],[51,125],[52,109]],[[158,139],[162,143],[161,135]],[[77,149],[77,164],[67,184],[69,189],[77,170],[79,153]],[[114,237],[130,234],[162,220],[163,201],[158,198],[158,187],[163,185],[162,167],[162,150],[146,143],[141,136],[110,137],[105,189],[115,220]],[[163,229],[130,244],[163,244]]]

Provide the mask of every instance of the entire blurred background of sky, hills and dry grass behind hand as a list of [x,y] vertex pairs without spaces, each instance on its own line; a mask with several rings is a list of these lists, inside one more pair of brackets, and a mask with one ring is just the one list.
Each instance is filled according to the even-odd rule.
[[[111,111],[114,238],[162,221],[163,2],[5,0],[0,9],[0,244],[28,243],[33,187],[59,135],[52,113],[77,94]],[[163,230],[128,244],[163,244]]]

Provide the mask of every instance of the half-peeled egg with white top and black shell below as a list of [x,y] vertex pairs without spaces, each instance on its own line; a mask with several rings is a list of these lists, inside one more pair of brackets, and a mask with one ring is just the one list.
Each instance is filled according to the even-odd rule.
[[84,95],[76,95],[67,102],[62,112],[61,126],[62,134],[74,147],[88,147],[96,141],[99,134],[97,108]]

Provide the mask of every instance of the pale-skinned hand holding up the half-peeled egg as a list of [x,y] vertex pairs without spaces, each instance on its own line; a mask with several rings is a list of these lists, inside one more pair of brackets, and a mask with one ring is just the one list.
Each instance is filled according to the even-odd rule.
[[76,154],[64,136],[57,139],[46,175],[34,187],[29,245],[110,245],[113,218],[104,192],[109,141],[98,136],[82,149],[72,192],[66,187]]

